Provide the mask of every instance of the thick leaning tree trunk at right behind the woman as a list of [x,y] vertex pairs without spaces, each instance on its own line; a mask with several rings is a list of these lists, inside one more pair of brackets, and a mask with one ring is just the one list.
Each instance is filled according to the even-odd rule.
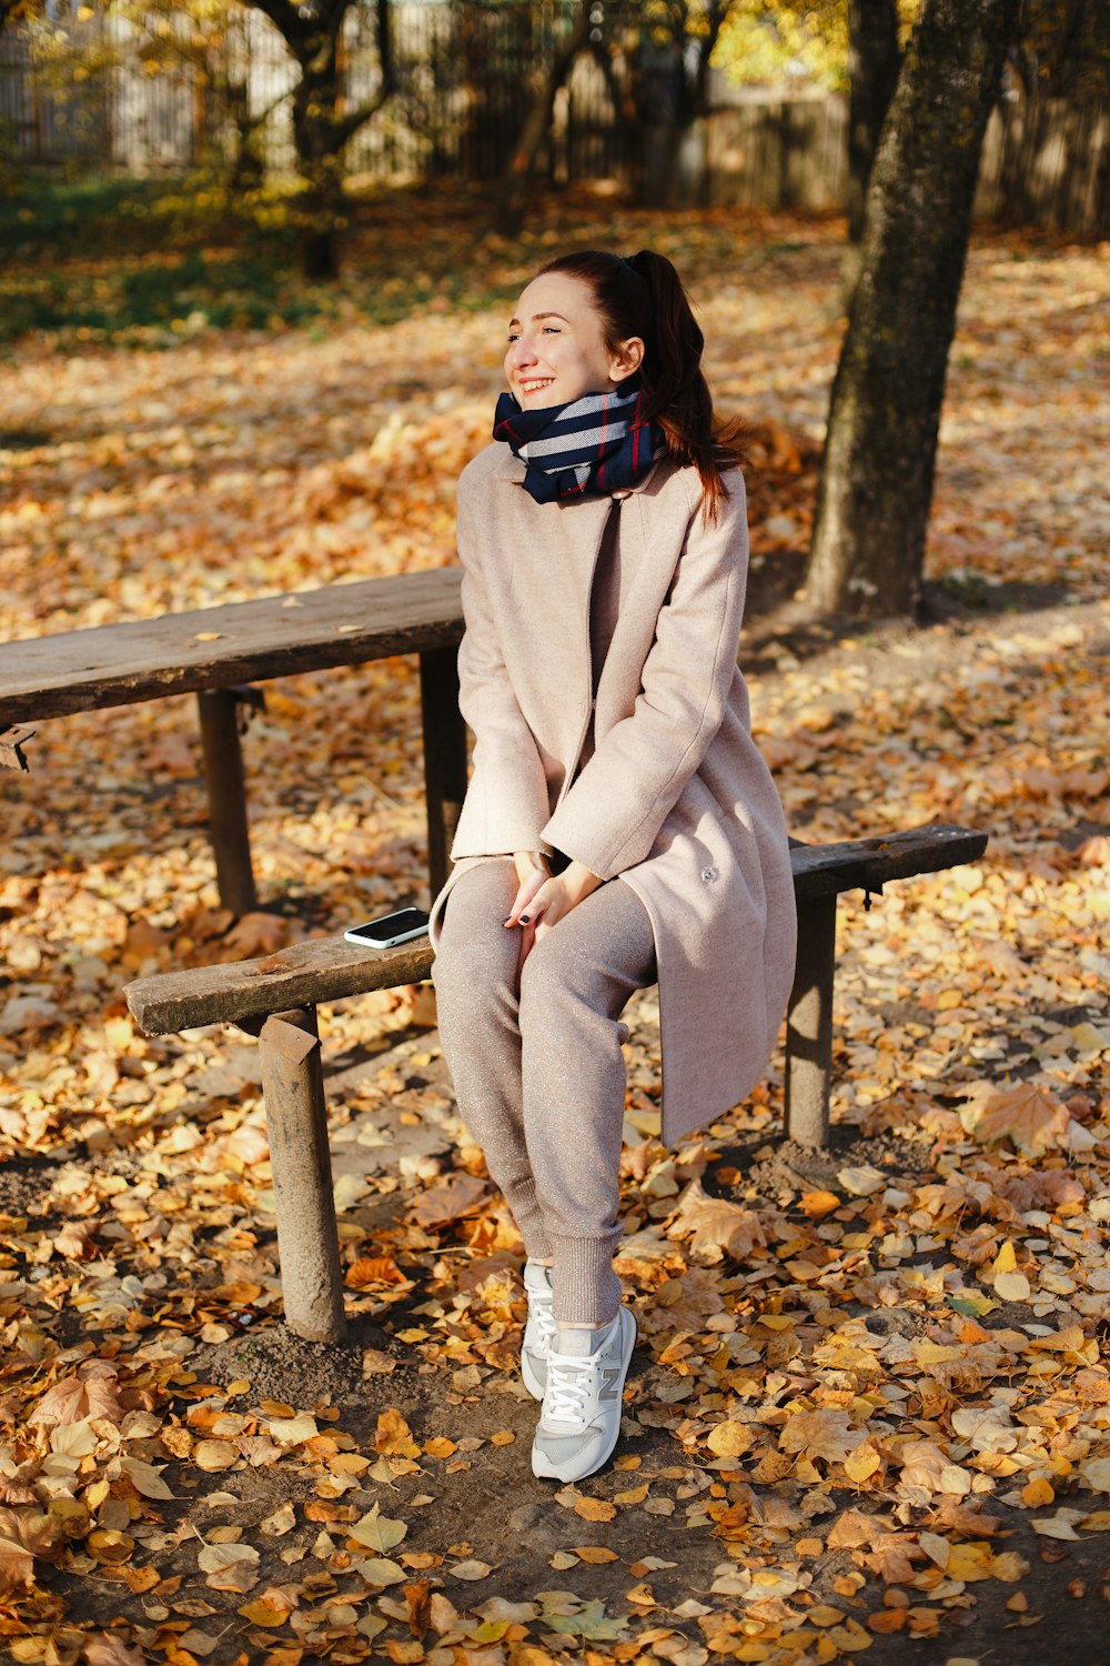
[[987,117],[1018,0],[924,0],[867,192],[805,593],[915,615],[937,428]]

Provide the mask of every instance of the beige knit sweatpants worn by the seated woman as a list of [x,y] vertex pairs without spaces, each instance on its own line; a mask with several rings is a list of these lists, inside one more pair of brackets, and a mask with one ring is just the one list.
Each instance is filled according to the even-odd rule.
[[516,866],[491,856],[448,895],[433,981],[459,1116],[486,1153],[528,1254],[554,1263],[554,1316],[604,1324],[612,1271],[626,1070],[621,1011],[656,981],[647,911],[609,880],[536,943],[501,921]]

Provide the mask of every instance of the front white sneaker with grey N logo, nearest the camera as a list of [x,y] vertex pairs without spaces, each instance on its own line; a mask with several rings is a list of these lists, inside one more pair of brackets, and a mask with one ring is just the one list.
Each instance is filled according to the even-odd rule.
[[621,1433],[624,1378],[636,1346],[631,1308],[601,1331],[559,1331],[533,1441],[533,1474],[581,1481],[601,1469]]

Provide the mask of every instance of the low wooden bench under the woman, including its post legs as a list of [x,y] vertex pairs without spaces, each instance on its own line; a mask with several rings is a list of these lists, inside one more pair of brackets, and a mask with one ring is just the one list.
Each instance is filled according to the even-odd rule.
[[[954,868],[985,848],[985,833],[940,825],[842,845],[794,845],[799,946],[785,1041],[792,1140],[822,1146],[829,1138],[839,893],[879,893],[889,880]],[[211,1023],[258,1035],[285,1318],[300,1336],[338,1341],[344,1334],[316,1006],[419,983],[431,961],[426,936],[389,950],[313,938],[265,960],[160,973],[126,986],[128,1006],[146,1035]]]

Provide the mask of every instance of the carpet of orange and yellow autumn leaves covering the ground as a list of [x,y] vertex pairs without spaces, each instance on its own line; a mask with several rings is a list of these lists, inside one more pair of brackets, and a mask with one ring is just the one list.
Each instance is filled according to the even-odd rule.
[[[752,425],[754,593],[797,573],[840,227],[569,208],[388,325],[90,342],[5,365],[0,625],[28,636],[451,558],[501,300],[564,243],[672,253]],[[468,250],[384,212],[373,260]],[[1105,253],[1105,252],[1102,252]],[[371,260],[368,248],[366,260]],[[498,307],[476,305],[481,288]],[[280,1324],[253,1046],[151,1041],[140,973],[419,900],[414,665],[288,680],[246,740],[265,910],[220,910],[190,701],[40,725],[0,850],[0,1638],[18,1661],[1105,1658],[1110,1046],[1100,252],[974,242],[929,578],[942,621],[752,620],[792,831],[932,818],[975,866],[842,900],[837,1138],[749,1103],[654,1138],[631,1010],[617,1261],[641,1323],[607,1473],[531,1478],[519,1241],[428,993],[323,1013],[356,1343]],[[1102,431],[1100,431],[1102,430]],[[742,653],[744,658],[744,653]],[[1100,671],[1100,660],[1103,670]]]

